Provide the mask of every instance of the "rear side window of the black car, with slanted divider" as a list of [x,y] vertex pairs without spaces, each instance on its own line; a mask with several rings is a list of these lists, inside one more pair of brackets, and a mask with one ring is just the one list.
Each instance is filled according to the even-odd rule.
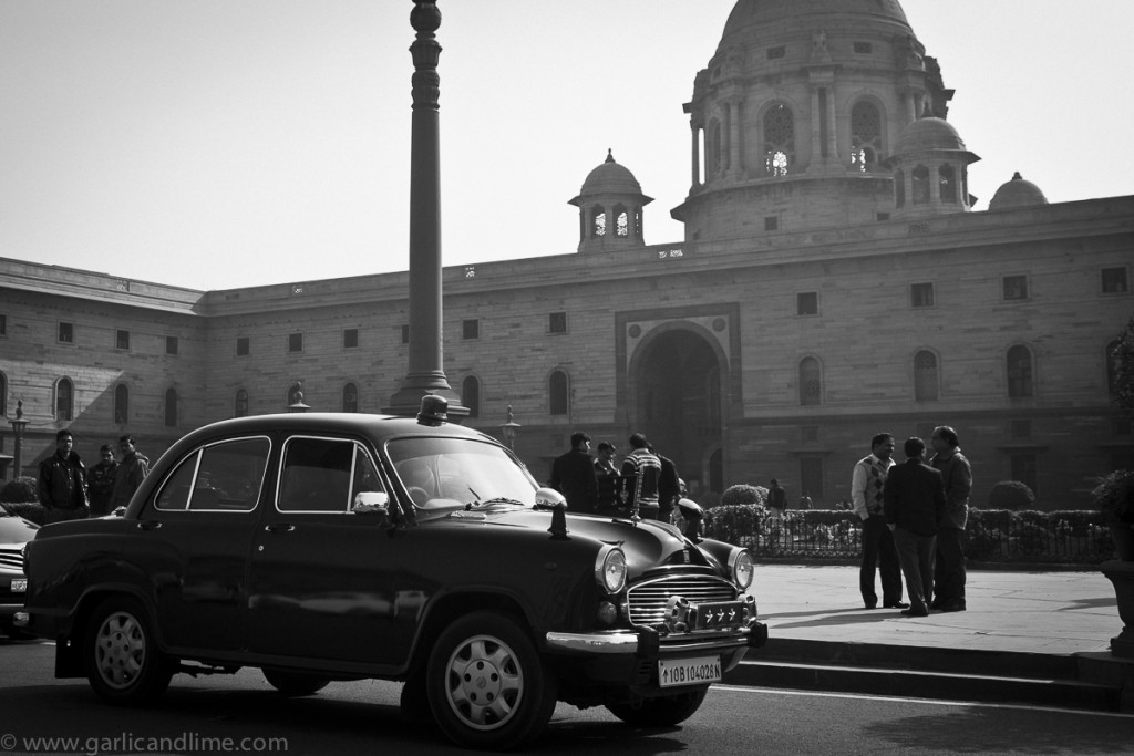
[[270,450],[263,436],[202,447],[177,466],[155,506],[167,511],[251,511],[260,500]]

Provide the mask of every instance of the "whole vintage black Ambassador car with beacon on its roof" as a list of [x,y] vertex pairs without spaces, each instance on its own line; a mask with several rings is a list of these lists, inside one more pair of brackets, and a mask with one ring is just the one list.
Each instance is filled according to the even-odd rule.
[[384,678],[408,715],[496,749],[557,700],[676,724],[764,643],[746,550],[565,515],[445,410],[194,431],[121,517],[39,530],[19,619],[57,642],[57,677],[112,703],[149,704],[177,672],[255,666],[289,695]]

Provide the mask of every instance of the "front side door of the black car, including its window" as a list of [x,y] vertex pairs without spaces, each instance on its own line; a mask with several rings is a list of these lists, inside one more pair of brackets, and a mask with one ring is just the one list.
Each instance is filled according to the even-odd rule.
[[391,669],[408,657],[433,588],[405,567],[405,538],[389,520],[353,507],[359,492],[381,499],[388,491],[358,441],[286,441],[251,562],[253,652]]

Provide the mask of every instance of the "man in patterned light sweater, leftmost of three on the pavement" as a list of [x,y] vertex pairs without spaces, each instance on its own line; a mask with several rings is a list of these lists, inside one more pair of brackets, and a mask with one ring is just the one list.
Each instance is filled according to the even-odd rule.
[[854,466],[850,477],[850,500],[854,511],[862,519],[862,568],[858,571],[858,587],[866,609],[878,606],[874,592],[874,570],[882,578],[882,606],[886,609],[909,609],[902,601],[902,568],[898,552],[894,547],[894,535],[886,526],[882,513],[882,489],[886,476],[894,466],[894,436],[879,433],[870,440],[871,453]]

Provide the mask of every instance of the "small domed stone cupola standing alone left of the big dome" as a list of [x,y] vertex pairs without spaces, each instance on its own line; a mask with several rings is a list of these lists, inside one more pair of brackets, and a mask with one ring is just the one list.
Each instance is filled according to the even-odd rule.
[[653,197],[642,194],[634,173],[616,163],[610,150],[607,160],[587,175],[578,196],[569,202],[578,207],[579,252],[645,246],[642,209]]

